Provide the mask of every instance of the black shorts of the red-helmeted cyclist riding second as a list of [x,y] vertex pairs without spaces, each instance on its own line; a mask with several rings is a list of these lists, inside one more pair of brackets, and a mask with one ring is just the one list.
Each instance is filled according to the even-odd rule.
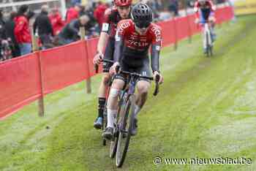
[[[115,38],[109,37],[107,46],[105,48],[104,58],[108,60],[113,60],[114,51],[115,51]],[[112,65],[113,64],[103,62],[103,72],[109,72],[109,69]]]

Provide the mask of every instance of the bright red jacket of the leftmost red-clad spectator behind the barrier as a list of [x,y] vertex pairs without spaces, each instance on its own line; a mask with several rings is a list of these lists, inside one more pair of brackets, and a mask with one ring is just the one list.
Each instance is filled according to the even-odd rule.
[[21,15],[15,18],[14,34],[18,43],[31,43],[29,20],[25,16]]

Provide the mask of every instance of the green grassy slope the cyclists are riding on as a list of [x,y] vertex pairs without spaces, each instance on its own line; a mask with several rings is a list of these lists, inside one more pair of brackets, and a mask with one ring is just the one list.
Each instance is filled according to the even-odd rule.
[[[214,58],[203,58],[200,37],[162,53],[165,83],[140,113],[122,170],[256,170],[255,16],[217,29]],[[24,107],[0,125],[0,170],[116,170],[92,129],[100,77],[93,94],[84,83]],[[46,129],[49,126],[50,129]],[[252,158],[246,165],[160,165],[154,156]]]

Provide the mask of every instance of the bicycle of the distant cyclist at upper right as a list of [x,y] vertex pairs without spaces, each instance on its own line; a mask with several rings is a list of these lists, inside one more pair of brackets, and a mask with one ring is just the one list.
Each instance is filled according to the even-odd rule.
[[[202,23],[202,22],[201,22]],[[203,22],[204,29],[203,29],[203,47],[206,50],[206,56],[213,56],[213,47],[214,47],[214,41],[211,37],[211,28],[209,26],[209,21]]]

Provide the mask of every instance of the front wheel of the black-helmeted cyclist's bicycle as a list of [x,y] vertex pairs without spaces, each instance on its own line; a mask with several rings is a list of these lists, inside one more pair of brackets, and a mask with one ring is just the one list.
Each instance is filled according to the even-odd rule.
[[135,95],[127,98],[123,113],[120,113],[119,135],[116,150],[116,166],[121,167],[129,147],[132,126],[135,120]]

